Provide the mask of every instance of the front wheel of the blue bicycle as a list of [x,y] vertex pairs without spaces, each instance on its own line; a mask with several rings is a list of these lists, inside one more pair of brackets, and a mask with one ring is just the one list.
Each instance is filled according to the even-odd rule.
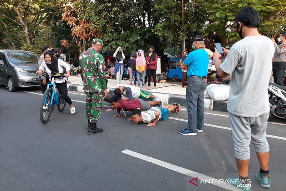
[[[51,117],[51,113],[53,111],[53,104],[50,106],[52,100],[53,89],[47,88],[43,95],[43,101],[40,106],[40,119],[42,123],[47,123]],[[46,99],[46,104],[44,105]]]

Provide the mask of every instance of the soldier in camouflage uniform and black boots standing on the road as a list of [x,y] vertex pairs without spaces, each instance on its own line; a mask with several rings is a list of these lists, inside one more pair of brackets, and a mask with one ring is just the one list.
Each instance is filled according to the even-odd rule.
[[107,78],[104,69],[104,57],[99,54],[103,48],[102,40],[92,40],[92,48],[79,57],[79,67],[82,68],[84,92],[86,93],[86,119],[88,119],[88,135],[101,133],[103,129],[96,127],[107,97]]

